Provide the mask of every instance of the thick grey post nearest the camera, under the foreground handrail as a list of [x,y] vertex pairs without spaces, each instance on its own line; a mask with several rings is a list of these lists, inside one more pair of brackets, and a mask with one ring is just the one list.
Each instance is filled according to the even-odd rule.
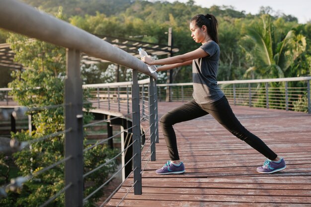
[[65,129],[71,129],[65,135],[65,207],[83,206],[83,115],[82,80],[80,78],[80,52],[66,50],[65,80]]

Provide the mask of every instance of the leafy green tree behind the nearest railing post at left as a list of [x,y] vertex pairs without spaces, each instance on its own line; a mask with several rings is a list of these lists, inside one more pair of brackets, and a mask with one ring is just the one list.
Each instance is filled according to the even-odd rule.
[[[61,10],[57,17],[62,18]],[[35,130],[30,135],[28,131],[22,131],[12,134],[12,137],[19,141],[33,140],[64,131],[64,108],[61,105],[64,103],[65,49],[17,34],[10,34],[7,41],[16,54],[15,61],[25,68],[24,71],[12,73],[15,79],[9,83],[9,87],[12,87],[11,94],[19,105],[37,108],[28,112],[32,114]],[[50,106],[52,108],[49,108]],[[91,106],[86,104],[83,107],[86,109],[83,116],[84,123],[88,123],[92,119],[92,115],[87,112]],[[105,145],[98,145],[84,152],[83,155],[84,173],[86,173],[115,156],[116,151],[108,149]],[[64,135],[35,142],[29,149],[14,153],[13,158],[21,176],[38,172],[64,158]],[[115,168],[116,163],[111,162],[84,178],[85,186],[88,186],[84,190],[84,197],[98,188]],[[36,207],[63,188],[64,164],[60,164],[26,182],[23,190],[16,193],[10,192],[7,198],[0,201],[0,205],[1,207]],[[102,190],[89,199],[85,206],[93,206],[101,194]],[[50,206],[63,207],[64,195],[57,198]]]

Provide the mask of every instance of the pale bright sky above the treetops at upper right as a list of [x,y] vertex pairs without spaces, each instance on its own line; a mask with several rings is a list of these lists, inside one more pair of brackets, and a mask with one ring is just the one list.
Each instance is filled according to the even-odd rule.
[[[176,0],[167,0],[174,2]],[[180,2],[187,2],[188,0],[178,0]],[[196,5],[209,8],[212,5],[226,5],[233,6],[234,10],[245,13],[256,14],[260,6],[270,6],[274,11],[292,15],[298,18],[299,23],[306,23],[311,21],[311,0],[194,0]]]

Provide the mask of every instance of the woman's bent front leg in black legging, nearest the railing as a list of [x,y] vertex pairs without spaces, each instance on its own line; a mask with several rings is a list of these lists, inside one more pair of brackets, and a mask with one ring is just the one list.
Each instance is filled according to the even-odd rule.
[[164,114],[160,119],[162,133],[168,149],[168,155],[171,160],[179,160],[177,141],[173,125],[180,122],[189,121],[208,113],[191,100]]

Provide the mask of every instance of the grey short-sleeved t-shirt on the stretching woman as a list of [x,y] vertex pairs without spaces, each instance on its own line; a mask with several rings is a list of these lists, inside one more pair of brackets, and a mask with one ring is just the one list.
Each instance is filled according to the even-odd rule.
[[220,48],[214,41],[207,42],[200,48],[209,56],[192,62],[193,98],[198,104],[213,103],[225,95],[216,80]]

